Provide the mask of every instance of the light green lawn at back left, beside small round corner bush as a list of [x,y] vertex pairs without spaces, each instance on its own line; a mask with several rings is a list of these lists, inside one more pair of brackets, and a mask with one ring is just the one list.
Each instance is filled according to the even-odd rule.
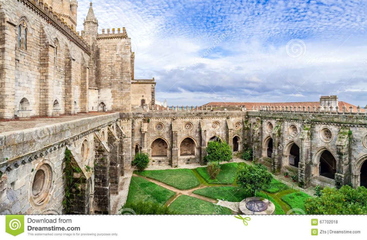
[[138,171],[137,174],[155,179],[181,190],[195,188],[200,185],[199,179],[196,178],[191,169]]

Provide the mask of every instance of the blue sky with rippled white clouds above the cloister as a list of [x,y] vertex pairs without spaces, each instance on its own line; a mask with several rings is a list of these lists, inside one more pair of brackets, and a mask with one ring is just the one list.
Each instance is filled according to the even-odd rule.
[[[89,1],[79,0],[78,30]],[[94,1],[102,28],[126,27],[135,78],[169,105],[211,101],[367,104],[366,1]]]

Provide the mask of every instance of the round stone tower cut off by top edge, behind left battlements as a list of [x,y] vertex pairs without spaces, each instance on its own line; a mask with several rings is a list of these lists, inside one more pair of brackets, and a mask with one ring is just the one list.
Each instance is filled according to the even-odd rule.
[[77,25],[78,2],[76,0],[44,0],[52,11],[75,31]]

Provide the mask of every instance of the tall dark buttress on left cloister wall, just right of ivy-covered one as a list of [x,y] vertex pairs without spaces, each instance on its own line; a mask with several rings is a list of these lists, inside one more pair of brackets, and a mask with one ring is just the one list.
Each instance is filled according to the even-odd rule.
[[94,213],[110,213],[110,155],[109,148],[99,134],[94,141]]

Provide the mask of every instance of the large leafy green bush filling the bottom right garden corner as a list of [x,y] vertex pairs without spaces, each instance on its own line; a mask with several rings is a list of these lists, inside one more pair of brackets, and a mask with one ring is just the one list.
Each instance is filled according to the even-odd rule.
[[326,187],[320,197],[306,200],[308,214],[367,214],[367,189],[348,185],[339,190]]

